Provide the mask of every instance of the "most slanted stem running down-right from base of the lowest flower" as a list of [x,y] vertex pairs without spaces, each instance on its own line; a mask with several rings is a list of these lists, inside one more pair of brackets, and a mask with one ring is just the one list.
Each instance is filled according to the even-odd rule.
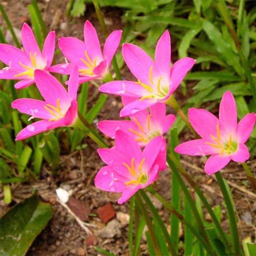
[[175,208],[172,207],[172,205],[170,203],[168,203],[163,197],[160,196],[160,194],[158,194],[155,189],[152,186],[148,186],[147,190],[156,198],[158,199],[165,207],[166,210],[170,211],[172,214],[174,214],[175,216],[177,216],[180,221],[185,224],[190,231],[194,234],[194,236],[200,241],[201,244],[203,244],[204,249],[210,254],[210,255],[214,255],[211,246],[209,245],[209,243],[206,243],[204,237],[198,232],[198,230],[191,224],[190,220],[184,218],[184,216],[177,211]]

